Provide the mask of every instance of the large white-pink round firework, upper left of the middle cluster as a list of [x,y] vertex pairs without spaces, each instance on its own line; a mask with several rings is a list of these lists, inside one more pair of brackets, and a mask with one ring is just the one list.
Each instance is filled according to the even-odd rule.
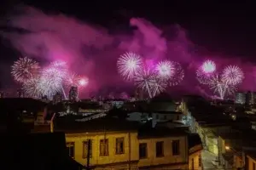
[[125,53],[117,61],[119,74],[125,80],[131,80],[137,71],[143,67],[143,59],[140,55],[134,53]]

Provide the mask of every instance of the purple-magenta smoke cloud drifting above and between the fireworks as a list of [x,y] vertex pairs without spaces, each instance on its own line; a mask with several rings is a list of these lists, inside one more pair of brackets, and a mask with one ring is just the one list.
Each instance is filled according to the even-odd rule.
[[[185,77],[178,87],[172,89],[183,89],[185,92],[201,93],[195,80],[195,68],[202,59],[212,58],[222,66],[241,64],[239,59],[232,59],[231,62],[222,56],[200,56],[188,33],[178,25],[161,30],[148,20],[131,18],[132,35],[109,34],[107,28],[65,14],[45,14],[37,8],[26,6],[16,10],[19,13],[9,16],[7,26],[26,32],[0,31],[2,37],[8,39],[21,54],[42,61],[42,65],[59,59],[67,61],[71,71],[90,78],[84,94],[103,87],[124,86],[126,82],[116,71],[116,60],[126,51],[136,52],[147,59],[180,62],[186,70]],[[242,88],[253,88],[252,84],[248,84],[246,80]]]

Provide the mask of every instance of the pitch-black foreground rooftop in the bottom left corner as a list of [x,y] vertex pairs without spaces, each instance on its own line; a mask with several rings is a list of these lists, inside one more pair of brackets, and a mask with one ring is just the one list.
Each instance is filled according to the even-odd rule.
[[82,169],[67,155],[64,133],[1,135],[1,169]]

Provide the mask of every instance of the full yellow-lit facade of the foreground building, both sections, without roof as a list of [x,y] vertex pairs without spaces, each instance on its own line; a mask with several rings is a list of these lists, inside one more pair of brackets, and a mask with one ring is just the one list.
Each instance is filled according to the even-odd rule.
[[[140,139],[137,132],[66,133],[69,156],[84,166],[89,140],[90,167],[95,169],[188,169],[186,136]],[[102,149],[103,145],[107,149]]]

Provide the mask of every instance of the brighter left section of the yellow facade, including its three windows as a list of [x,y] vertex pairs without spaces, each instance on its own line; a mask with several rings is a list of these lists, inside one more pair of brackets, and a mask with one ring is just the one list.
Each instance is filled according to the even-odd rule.
[[[121,151],[117,150],[119,139],[123,141]],[[87,163],[88,140],[91,141],[90,167],[137,167],[137,132],[67,133],[69,155],[82,165]],[[104,146],[102,141],[105,141]],[[73,151],[70,150],[71,147]]]

